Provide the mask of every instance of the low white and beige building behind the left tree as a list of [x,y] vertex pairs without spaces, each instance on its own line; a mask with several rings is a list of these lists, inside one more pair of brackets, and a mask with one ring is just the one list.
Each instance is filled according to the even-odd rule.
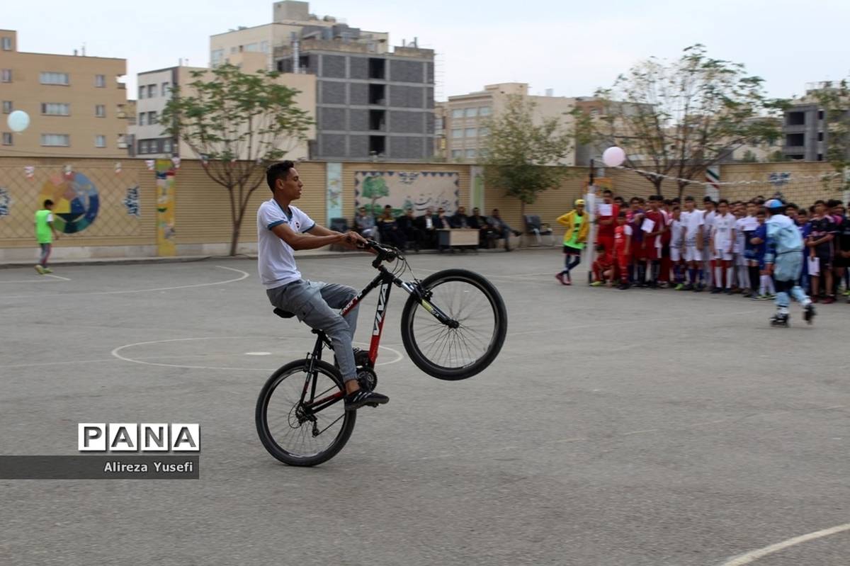
[[[238,66],[244,72],[252,72],[263,68],[263,54],[256,52],[241,52],[230,58],[232,65]],[[193,90],[190,86],[194,82],[194,72],[203,73],[198,78],[202,81],[210,81],[213,78],[212,71],[206,67],[176,66],[155,71],[144,71],[138,75],[139,99],[136,101],[136,123],[129,127],[130,140],[133,147],[133,156],[145,159],[156,159],[166,157],[196,158],[195,151],[184,141],[173,139],[163,132],[160,117],[165,110],[168,101],[172,98],[173,88],[178,87],[178,92],[191,96]],[[276,82],[299,91],[296,103],[300,108],[309,109],[314,117],[315,107],[315,76],[295,75],[283,73]],[[295,142],[292,147],[287,147],[286,157],[288,159],[306,159],[309,151],[309,140],[315,139],[314,127],[307,132],[307,139]],[[248,159],[243,151],[241,159]]]

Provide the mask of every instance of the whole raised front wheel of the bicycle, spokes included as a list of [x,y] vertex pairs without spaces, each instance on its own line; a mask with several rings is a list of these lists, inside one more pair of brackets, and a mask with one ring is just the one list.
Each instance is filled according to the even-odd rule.
[[[484,371],[507,333],[507,310],[496,287],[473,271],[445,269],[422,280],[422,289],[428,305],[411,295],[401,313],[401,339],[416,367],[450,381]],[[456,325],[440,322],[429,308]]]

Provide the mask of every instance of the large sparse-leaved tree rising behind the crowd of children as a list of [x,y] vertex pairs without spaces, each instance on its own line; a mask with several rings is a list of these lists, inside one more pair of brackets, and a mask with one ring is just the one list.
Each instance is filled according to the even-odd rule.
[[762,78],[744,65],[712,59],[703,45],[673,62],[650,58],[596,93],[602,111],[581,110],[581,143],[626,150],[626,167],[638,169],[660,193],[664,176],[679,179],[678,193],[706,167],[745,144],[773,143],[787,101],[768,99]]

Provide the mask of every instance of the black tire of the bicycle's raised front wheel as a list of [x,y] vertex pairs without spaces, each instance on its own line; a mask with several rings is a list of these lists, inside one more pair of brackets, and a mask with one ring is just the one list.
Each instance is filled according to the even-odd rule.
[[[467,269],[444,269],[422,280],[422,287],[428,291],[433,291],[441,284],[453,281],[465,283],[481,291],[484,297],[486,297],[494,316],[494,327],[490,344],[487,346],[486,351],[477,359],[474,359],[474,361],[465,365],[450,367],[440,365],[429,359],[428,355],[422,352],[422,348],[416,342],[414,323],[417,312],[429,317],[433,315],[429,314],[425,308],[422,308],[421,311],[418,310],[418,308],[422,307],[422,304],[419,303],[415,295],[407,298],[405,308],[401,313],[401,340],[405,345],[405,351],[420,370],[429,376],[446,381],[467,379],[467,377],[472,377],[484,371],[496,359],[507,335],[507,309],[505,308],[505,303],[499,291],[496,290],[496,287],[490,281],[486,280],[483,275],[468,271]],[[434,306],[444,310],[446,314],[451,316],[450,309],[446,308],[445,304],[440,304],[438,297],[432,298],[431,303]]]

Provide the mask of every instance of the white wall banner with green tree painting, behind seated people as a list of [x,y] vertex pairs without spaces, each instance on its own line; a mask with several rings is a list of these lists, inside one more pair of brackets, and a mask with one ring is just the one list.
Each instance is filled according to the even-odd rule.
[[354,208],[378,215],[390,205],[395,215],[412,208],[419,216],[443,207],[451,216],[460,206],[460,184],[455,171],[355,171]]

